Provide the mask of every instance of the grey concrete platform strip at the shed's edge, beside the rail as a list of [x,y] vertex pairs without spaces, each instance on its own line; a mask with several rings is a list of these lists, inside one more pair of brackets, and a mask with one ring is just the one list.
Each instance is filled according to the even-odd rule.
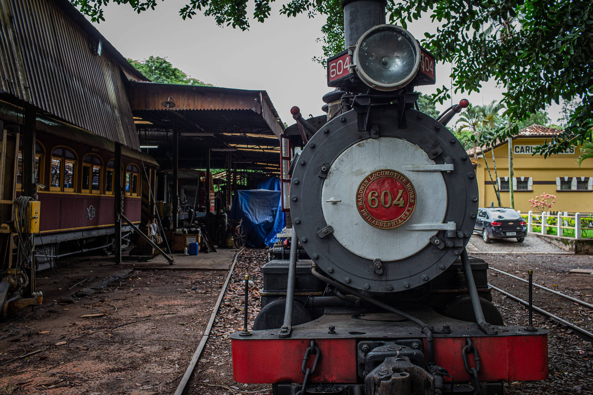
[[167,270],[228,270],[232,259],[238,249],[218,248],[216,252],[199,253],[197,255],[183,255],[183,253],[174,253],[173,265],[161,255],[151,259],[148,262],[124,262],[122,267],[140,269],[167,269]]

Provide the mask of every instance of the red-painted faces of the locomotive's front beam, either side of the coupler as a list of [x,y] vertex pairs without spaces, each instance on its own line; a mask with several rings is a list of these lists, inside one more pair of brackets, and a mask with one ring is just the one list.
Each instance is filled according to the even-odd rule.
[[[480,381],[544,380],[548,375],[547,335],[474,337],[480,353]],[[321,350],[313,383],[356,383],[358,339],[315,339]],[[435,362],[455,381],[469,381],[461,349],[465,338],[435,338]],[[300,383],[308,339],[232,339],[233,378],[238,383]],[[426,348],[426,340],[425,340]],[[474,367],[473,355],[469,355]],[[310,358],[307,366],[313,365]]]

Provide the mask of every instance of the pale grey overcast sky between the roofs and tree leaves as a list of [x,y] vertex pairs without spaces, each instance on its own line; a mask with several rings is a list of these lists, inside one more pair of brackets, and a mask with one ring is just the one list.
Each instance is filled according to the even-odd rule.
[[[313,62],[322,56],[320,28],[324,18],[287,18],[279,15],[282,2],[272,3],[272,13],[265,23],[250,21],[248,31],[218,27],[212,17],[196,15],[182,20],[178,10],[183,0],[158,2],[154,11],[136,14],[129,5],[110,4],[106,21],[95,24],[99,31],[125,57],[136,60],[161,56],[183,72],[214,86],[267,91],[282,121],[292,124],[289,112],[293,105],[301,113],[321,115],[321,97],[333,88],[326,84],[326,71]],[[248,11],[250,13],[251,11]],[[414,21],[408,30],[421,40],[425,31],[436,32],[428,17]],[[420,86],[417,90],[431,94],[436,87],[450,86],[451,65],[437,64],[436,85]],[[486,104],[502,98],[502,89],[486,82],[479,93],[453,95],[453,102],[467,98],[474,104]],[[437,104],[437,109],[448,107]],[[560,106],[548,112],[552,122]]]

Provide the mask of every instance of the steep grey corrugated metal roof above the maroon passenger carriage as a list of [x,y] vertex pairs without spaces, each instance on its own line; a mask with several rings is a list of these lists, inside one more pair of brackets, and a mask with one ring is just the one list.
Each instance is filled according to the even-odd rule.
[[122,68],[146,78],[67,1],[0,0],[0,60],[0,89],[139,149]]

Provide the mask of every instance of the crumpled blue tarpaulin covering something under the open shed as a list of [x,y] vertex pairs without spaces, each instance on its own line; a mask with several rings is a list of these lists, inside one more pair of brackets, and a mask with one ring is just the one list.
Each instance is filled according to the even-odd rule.
[[243,219],[247,244],[263,247],[278,240],[276,234],[284,227],[285,215],[280,205],[280,179],[272,177],[257,187],[260,189],[237,191],[229,218]]

